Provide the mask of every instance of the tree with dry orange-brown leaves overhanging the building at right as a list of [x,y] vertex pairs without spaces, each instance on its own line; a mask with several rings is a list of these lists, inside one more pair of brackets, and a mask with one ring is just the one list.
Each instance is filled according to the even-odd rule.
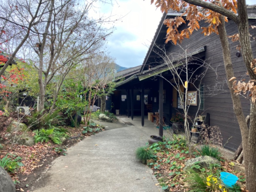
[[[246,189],[256,189],[256,59],[253,58],[250,42],[248,15],[245,0],[151,0],[155,2],[162,12],[174,10],[182,12],[181,16],[174,19],[167,19],[164,24],[167,26],[166,43],[172,41],[174,44],[189,38],[194,30],[200,29],[199,21],[204,20],[209,25],[202,27],[204,35],[216,33],[220,37],[223,51],[223,61],[226,70],[228,87],[231,92],[233,108],[241,130],[244,165],[246,173]],[[250,81],[248,83],[236,82],[232,68],[228,36],[225,22],[233,20],[238,27],[238,34],[231,36],[232,40],[239,40],[244,64],[247,68]],[[186,25],[181,30],[179,26]],[[252,26],[253,27],[253,26]],[[251,100],[250,125],[249,129],[243,113],[239,94],[249,92]]]

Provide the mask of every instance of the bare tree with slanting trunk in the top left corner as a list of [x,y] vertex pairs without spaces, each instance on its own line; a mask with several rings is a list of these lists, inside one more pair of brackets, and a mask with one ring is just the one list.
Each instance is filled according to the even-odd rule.
[[0,48],[9,55],[8,61],[0,71],[3,75],[5,69],[12,63],[20,48],[27,41],[32,28],[44,18],[45,8],[51,0],[3,0],[0,5]]

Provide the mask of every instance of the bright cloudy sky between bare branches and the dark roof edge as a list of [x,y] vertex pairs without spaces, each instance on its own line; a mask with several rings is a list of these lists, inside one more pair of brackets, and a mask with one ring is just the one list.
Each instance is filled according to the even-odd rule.
[[[108,54],[116,58],[122,67],[142,65],[148,47],[154,37],[162,13],[150,0],[112,0],[114,5],[97,4],[96,15],[115,15],[121,20],[115,22],[116,30],[108,37]],[[246,0],[247,4],[256,4]],[[94,13],[95,14],[95,13]],[[147,45],[147,46],[146,46]]]

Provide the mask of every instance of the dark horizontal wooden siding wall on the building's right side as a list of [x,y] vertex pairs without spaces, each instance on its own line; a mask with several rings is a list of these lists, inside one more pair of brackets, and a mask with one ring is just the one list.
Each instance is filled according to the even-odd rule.
[[[201,27],[207,26],[208,24],[201,23]],[[256,25],[255,20],[250,20],[249,25]],[[233,35],[237,33],[237,26],[233,21],[226,23],[226,29],[228,35]],[[252,35],[256,35],[256,30],[252,30]],[[223,144],[225,148],[230,150],[236,150],[241,143],[241,133],[237,123],[236,116],[233,112],[233,105],[230,93],[228,91],[227,79],[225,68],[222,58],[222,49],[220,44],[219,36],[212,34],[210,36],[204,36],[201,33],[202,30],[198,30],[190,36],[189,39],[185,39],[181,46],[188,49],[188,52],[193,52],[200,47],[206,45],[205,61],[216,70],[217,75],[214,70],[208,70],[203,79],[203,84],[206,87],[213,87],[218,84],[222,91],[217,91],[213,93],[205,91],[205,101],[204,101],[204,113],[210,113],[210,125],[218,126],[221,130],[223,137]],[[171,44],[170,42],[168,44]],[[244,66],[243,57],[236,57],[236,46],[238,42],[231,42],[230,40],[230,50],[233,68],[235,76],[238,79],[242,79],[245,76],[246,68]],[[252,49],[254,57],[256,57],[256,42],[252,42]],[[170,45],[170,52],[180,52],[179,46]],[[223,85],[223,86],[222,86]],[[207,88],[205,88],[207,90]],[[218,94],[217,94],[218,93]],[[248,100],[241,99],[242,105],[244,107],[244,115],[249,115],[250,103]],[[170,105],[171,106],[171,105]]]

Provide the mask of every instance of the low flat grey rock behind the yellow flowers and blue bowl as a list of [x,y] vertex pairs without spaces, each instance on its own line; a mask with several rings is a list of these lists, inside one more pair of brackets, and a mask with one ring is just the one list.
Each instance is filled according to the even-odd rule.
[[185,163],[185,167],[184,170],[192,167],[193,165],[195,165],[196,162],[199,162],[198,165],[200,165],[201,167],[209,167],[211,164],[219,164],[220,162],[211,156],[200,156],[200,157],[196,157],[193,159],[188,159],[188,161],[186,161]]

